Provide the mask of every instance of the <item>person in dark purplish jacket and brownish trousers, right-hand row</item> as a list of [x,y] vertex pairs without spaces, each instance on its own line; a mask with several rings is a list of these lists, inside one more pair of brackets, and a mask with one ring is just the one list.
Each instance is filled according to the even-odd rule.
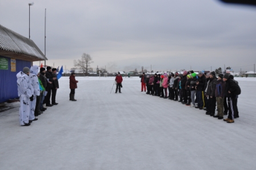
[[215,97],[217,100],[217,108],[218,108],[218,114],[216,116],[214,116],[214,118],[218,118],[218,119],[223,119],[223,100],[224,100],[224,96],[225,96],[225,87],[226,84],[225,82],[223,82],[223,74],[219,74],[218,75],[218,80],[217,80],[217,85],[215,88]]

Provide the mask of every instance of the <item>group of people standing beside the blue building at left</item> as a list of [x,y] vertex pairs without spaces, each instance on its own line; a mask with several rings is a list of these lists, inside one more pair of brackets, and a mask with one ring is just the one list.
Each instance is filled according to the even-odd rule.
[[30,123],[38,120],[35,117],[43,114],[47,107],[58,104],[55,102],[59,88],[56,68],[46,67],[45,70],[38,66],[24,67],[17,74],[17,86],[21,126],[30,126]]

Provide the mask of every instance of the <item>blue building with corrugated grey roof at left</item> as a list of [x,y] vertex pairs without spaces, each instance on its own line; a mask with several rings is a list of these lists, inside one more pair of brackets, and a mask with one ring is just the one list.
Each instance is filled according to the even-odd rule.
[[17,73],[40,60],[47,58],[31,39],[0,25],[0,103],[18,97]]

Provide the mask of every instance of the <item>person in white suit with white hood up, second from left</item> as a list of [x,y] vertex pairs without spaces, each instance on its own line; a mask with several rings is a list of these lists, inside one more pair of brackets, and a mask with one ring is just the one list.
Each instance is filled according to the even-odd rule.
[[32,85],[32,90],[33,90],[33,101],[30,101],[30,114],[29,114],[30,122],[38,120],[37,118],[35,118],[35,104],[37,103],[37,96],[40,95],[39,82],[37,77],[38,71],[39,71],[39,67],[37,65],[30,67],[29,79]]

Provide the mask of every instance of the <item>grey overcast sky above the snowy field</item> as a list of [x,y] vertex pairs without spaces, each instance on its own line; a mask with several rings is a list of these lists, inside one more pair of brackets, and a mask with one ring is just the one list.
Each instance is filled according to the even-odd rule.
[[[0,24],[29,37],[47,65],[70,69],[83,52],[108,71],[253,71],[256,7],[217,0],[0,0]],[[39,64],[39,62],[34,62]]]

